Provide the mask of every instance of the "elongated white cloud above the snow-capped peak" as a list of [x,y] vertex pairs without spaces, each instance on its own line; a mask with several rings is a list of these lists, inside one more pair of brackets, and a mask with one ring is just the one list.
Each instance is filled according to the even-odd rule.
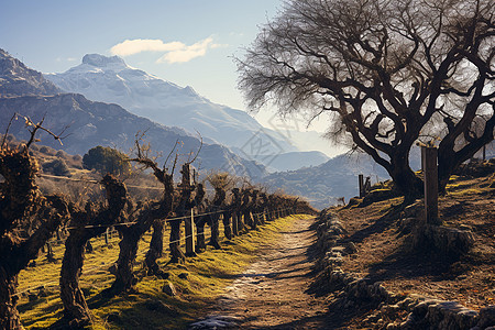
[[205,56],[208,50],[226,47],[227,45],[215,44],[213,37],[209,36],[193,45],[186,45],[182,42],[164,43],[161,40],[135,38],[125,40],[124,42],[111,47],[113,55],[129,56],[142,52],[160,52],[165,53],[156,62],[157,63],[185,63],[193,58]]

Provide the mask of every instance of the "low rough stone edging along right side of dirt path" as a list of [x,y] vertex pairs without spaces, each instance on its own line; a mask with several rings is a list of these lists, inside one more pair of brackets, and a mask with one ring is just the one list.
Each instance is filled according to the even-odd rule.
[[[430,299],[420,296],[395,294],[380,282],[358,278],[341,270],[343,256],[356,252],[346,239],[346,231],[337,216],[321,211],[317,220],[318,248],[321,257],[316,267],[321,285],[339,292],[337,308],[358,309],[374,306],[373,314],[362,321],[370,329],[448,329],[495,330],[495,306],[471,310],[458,301]],[[324,282],[324,283],[322,283]]]

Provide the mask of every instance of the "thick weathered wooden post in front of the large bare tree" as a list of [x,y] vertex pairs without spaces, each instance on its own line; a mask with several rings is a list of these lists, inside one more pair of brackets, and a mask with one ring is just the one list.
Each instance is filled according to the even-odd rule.
[[421,147],[421,165],[425,177],[425,221],[427,224],[440,224],[438,218],[437,155],[437,147]]

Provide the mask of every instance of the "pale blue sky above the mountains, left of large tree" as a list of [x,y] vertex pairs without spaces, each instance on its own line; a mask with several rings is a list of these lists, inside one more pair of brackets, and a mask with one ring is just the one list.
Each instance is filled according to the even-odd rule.
[[[133,67],[238,109],[245,107],[231,56],[242,55],[282,7],[282,0],[2,2],[0,47],[32,68],[59,73],[88,53],[124,54]],[[134,52],[153,51],[111,52],[127,40]]]

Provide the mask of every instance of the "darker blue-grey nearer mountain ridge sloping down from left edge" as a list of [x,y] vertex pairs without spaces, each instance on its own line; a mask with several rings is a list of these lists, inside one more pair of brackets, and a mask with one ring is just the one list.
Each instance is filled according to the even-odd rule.
[[[41,134],[42,143],[68,153],[85,154],[96,145],[114,146],[124,152],[134,145],[138,132],[146,132],[145,140],[153,151],[167,155],[176,141],[180,141],[182,162],[197,152],[200,141],[179,128],[167,128],[148,119],[138,117],[117,105],[94,102],[78,94],[64,94],[43,76],[0,50],[0,132],[14,112],[38,121],[57,133],[64,128],[67,138],[64,145]],[[18,139],[29,136],[24,123],[15,121],[10,133]],[[257,178],[265,175],[265,167],[254,161],[233,154],[228,147],[204,143],[195,164],[201,169],[222,168],[237,175]]]

